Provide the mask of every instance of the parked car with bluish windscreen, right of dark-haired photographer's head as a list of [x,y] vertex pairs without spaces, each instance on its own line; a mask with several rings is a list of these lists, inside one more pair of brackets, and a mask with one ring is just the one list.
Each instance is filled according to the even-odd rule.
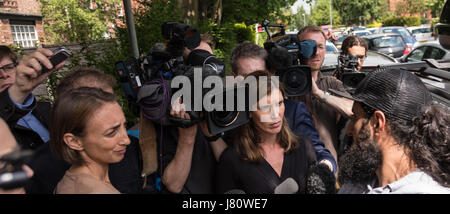
[[367,40],[369,50],[384,53],[394,58],[411,52],[403,37],[396,33],[372,34],[363,37]]

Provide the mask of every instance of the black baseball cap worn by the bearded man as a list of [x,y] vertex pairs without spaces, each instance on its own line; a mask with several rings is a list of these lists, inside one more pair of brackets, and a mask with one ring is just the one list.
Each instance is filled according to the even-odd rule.
[[382,111],[387,117],[411,121],[423,106],[432,104],[432,97],[422,81],[406,70],[386,69],[369,73],[352,95],[331,92],[364,103]]

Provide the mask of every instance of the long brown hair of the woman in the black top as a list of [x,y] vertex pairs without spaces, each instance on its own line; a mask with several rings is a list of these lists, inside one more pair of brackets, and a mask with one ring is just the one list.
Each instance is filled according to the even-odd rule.
[[[272,75],[268,71],[255,71],[248,76],[254,76],[256,78],[257,88],[253,90],[258,90],[260,87],[259,77],[267,77],[267,94],[271,93],[272,86]],[[248,77],[247,76],[247,77]],[[279,90],[284,96],[284,90],[281,84],[279,85]],[[259,95],[258,95],[259,97]],[[278,134],[279,144],[285,149],[285,152],[289,152],[297,148],[299,142],[297,136],[291,131],[287,123],[286,118],[283,116],[283,123],[281,131]],[[263,156],[259,150],[258,144],[261,142],[261,138],[258,135],[258,130],[254,126],[253,122],[249,122],[238,129],[234,143],[234,148],[239,156],[250,162],[260,162],[263,160]]]

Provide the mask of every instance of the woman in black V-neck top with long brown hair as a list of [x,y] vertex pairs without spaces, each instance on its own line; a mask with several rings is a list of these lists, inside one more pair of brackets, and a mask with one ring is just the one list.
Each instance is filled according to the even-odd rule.
[[217,191],[305,193],[308,168],[316,162],[314,149],[307,138],[297,137],[289,129],[284,118],[283,89],[271,87],[276,85],[268,72],[257,71],[250,76],[258,82],[258,87],[250,91],[258,92],[258,77],[266,76],[267,93],[258,96],[262,98],[257,110],[250,113],[251,122],[238,128],[233,146],[222,153]]

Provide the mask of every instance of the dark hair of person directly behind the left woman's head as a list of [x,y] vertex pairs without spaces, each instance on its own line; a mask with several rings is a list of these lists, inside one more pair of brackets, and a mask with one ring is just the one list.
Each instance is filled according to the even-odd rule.
[[97,82],[102,88],[114,88],[116,80],[113,76],[92,67],[74,68],[56,87],[56,97],[78,87],[90,87],[85,82]]

